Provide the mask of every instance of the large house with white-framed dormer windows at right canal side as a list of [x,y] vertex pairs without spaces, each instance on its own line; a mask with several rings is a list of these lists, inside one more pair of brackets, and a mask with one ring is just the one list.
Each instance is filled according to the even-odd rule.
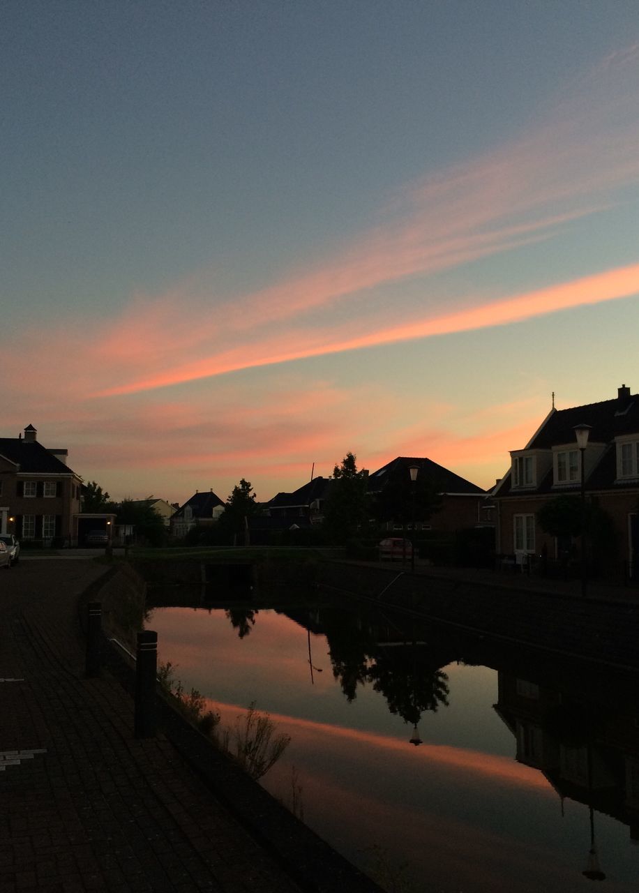
[[[544,533],[538,514],[551,499],[579,497],[581,451],[575,428],[591,426],[584,452],[585,499],[601,509],[600,539],[593,536],[588,563],[608,576],[639,572],[639,395],[622,385],[601,403],[554,407],[527,445],[510,451],[510,471],[494,489],[498,505],[497,552],[519,563],[563,560],[580,547],[578,537]],[[602,527],[607,525],[603,544]]]

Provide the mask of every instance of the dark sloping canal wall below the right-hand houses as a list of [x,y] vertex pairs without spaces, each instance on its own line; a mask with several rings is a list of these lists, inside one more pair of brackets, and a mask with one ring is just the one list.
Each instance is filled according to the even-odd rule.
[[639,670],[639,603],[630,599],[582,598],[514,582],[338,561],[322,564],[319,587],[337,601],[363,598],[483,637]]

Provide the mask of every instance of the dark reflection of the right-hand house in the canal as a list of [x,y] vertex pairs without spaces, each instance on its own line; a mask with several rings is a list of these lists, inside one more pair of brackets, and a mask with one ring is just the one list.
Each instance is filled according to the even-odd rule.
[[623,822],[639,841],[639,715],[581,703],[510,673],[498,674],[497,714],[520,763],[538,769],[560,797]]

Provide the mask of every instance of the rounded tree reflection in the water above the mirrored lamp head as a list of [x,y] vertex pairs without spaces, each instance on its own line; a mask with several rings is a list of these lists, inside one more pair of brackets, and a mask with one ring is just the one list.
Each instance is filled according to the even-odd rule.
[[448,676],[420,666],[410,648],[395,648],[390,658],[380,655],[369,668],[369,680],[386,697],[390,712],[411,725],[427,710],[436,713],[439,705],[448,706]]

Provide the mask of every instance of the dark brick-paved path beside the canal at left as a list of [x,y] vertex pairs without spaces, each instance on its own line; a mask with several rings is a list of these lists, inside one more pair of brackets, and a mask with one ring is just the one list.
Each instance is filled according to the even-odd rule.
[[285,870],[159,735],[133,737],[108,674],[84,678],[89,561],[0,571],[0,893],[293,893]]

